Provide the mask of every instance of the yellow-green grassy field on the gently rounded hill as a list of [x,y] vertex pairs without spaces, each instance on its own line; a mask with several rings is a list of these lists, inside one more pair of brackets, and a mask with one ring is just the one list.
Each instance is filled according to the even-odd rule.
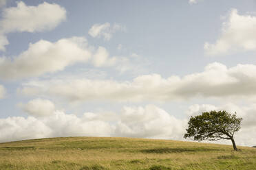
[[44,138],[0,144],[0,169],[256,169],[256,148],[142,138]]

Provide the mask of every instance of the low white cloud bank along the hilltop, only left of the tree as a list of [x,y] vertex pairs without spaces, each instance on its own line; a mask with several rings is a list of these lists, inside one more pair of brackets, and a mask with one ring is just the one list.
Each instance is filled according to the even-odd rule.
[[[41,112],[41,111],[39,111]],[[47,117],[0,119],[0,141],[56,136],[134,136],[181,139],[184,121],[157,106],[125,107],[120,113],[85,112],[83,117],[58,110]]]

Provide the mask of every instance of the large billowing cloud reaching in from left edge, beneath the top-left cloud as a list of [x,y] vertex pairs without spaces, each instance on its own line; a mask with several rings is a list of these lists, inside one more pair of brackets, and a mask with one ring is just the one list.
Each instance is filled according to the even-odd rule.
[[[1,43],[1,37],[0,37]],[[133,55],[136,55],[135,53]],[[16,57],[0,57],[0,79],[18,80],[63,71],[66,66],[88,63],[95,67],[111,66],[123,73],[139,67],[138,58],[109,56],[105,47],[88,45],[84,37],[62,38],[56,42],[39,40]],[[145,62],[143,62],[145,64]],[[138,68],[136,68],[138,73]]]

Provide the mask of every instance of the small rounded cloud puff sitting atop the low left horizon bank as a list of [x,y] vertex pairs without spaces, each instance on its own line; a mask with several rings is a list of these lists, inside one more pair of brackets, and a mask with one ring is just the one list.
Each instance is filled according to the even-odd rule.
[[55,106],[52,101],[47,99],[33,99],[28,101],[28,104],[19,104],[24,112],[34,117],[45,117],[51,115],[55,111]]

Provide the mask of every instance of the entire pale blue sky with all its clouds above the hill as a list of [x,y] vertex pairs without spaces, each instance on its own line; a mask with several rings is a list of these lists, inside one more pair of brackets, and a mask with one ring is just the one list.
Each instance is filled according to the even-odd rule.
[[255,0],[0,0],[0,142],[184,141],[189,117],[227,110],[243,118],[237,145],[256,145],[255,9]]

